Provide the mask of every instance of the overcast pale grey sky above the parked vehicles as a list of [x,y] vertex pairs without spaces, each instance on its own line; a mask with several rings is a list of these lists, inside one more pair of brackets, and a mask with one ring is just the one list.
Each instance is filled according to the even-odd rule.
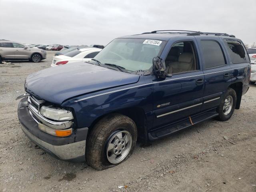
[[0,0],[0,39],[103,44],[153,30],[234,34],[256,42],[256,0]]

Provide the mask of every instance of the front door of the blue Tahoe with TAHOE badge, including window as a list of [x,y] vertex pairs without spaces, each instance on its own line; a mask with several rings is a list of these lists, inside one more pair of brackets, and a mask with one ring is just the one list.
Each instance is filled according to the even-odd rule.
[[175,42],[165,60],[166,70],[172,76],[164,80],[153,77],[154,130],[200,112],[204,73],[197,50],[195,40]]

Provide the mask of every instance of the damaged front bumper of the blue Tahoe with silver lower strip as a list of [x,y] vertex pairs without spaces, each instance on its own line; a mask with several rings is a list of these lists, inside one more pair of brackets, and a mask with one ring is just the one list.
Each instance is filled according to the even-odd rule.
[[42,132],[38,129],[38,123],[29,113],[27,98],[23,98],[18,105],[18,118],[22,131],[42,150],[61,160],[71,162],[85,161],[88,128],[74,130],[67,137],[57,137]]

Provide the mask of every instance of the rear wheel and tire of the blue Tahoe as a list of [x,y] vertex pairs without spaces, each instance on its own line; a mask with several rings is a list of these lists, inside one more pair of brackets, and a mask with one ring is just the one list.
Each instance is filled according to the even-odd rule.
[[228,88],[223,96],[220,105],[217,108],[219,116],[217,119],[220,121],[227,121],[232,116],[236,107],[236,92],[232,88]]

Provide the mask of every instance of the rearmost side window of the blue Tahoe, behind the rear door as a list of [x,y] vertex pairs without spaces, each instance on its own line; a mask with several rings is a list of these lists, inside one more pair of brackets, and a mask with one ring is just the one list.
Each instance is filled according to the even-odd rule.
[[250,62],[240,42],[226,40],[226,46],[228,47],[228,52],[234,64]]

